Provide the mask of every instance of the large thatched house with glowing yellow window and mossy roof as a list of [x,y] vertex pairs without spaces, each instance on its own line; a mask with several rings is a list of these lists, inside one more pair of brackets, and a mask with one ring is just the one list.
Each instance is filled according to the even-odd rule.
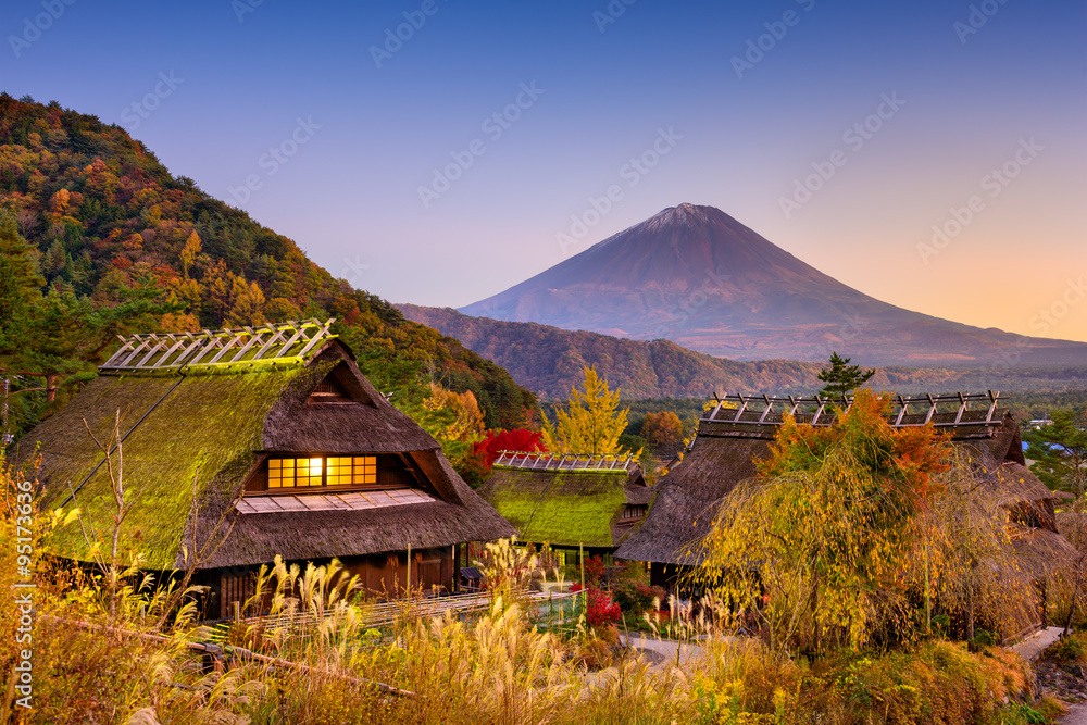
[[[410,548],[418,552],[412,583],[445,586],[453,580],[451,547],[513,528],[362,375],[330,322],[132,336],[85,390],[20,441],[16,458],[40,443],[41,503],[78,507],[101,536],[116,504],[88,429],[109,447],[120,412],[123,549],[142,554],[147,568],[170,571],[189,565],[184,552],[193,541],[199,549],[225,537],[199,562],[224,612],[243,593],[248,570],[276,554],[338,557],[371,589],[393,591]],[[50,548],[90,560],[78,527],[58,532]]]

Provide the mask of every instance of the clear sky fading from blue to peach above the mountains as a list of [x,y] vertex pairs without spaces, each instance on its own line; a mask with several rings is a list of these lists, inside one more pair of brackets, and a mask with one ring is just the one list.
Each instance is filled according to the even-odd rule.
[[395,302],[473,302],[690,201],[886,301],[1087,340],[1083,1],[253,3],[5,0],[0,88],[117,123]]

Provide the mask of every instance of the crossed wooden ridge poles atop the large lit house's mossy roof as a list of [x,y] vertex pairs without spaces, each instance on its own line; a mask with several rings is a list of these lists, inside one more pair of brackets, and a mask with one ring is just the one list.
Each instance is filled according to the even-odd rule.
[[329,333],[336,317],[267,323],[257,327],[204,329],[199,333],[135,333],[117,335],[121,348],[100,372],[140,370],[225,368],[245,364],[304,362],[318,346],[337,337]]

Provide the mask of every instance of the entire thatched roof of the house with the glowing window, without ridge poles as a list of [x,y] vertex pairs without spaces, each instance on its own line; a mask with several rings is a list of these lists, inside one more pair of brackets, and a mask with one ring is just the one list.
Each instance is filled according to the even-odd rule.
[[[108,443],[120,410],[130,501],[122,543],[143,554],[148,568],[182,566],[193,524],[200,546],[224,512],[234,528],[203,567],[264,563],[276,554],[301,560],[443,547],[513,534],[453,472],[438,442],[371,385],[346,346],[330,336],[316,342],[303,358],[283,362],[105,370],[24,436],[14,458],[27,461],[40,445],[42,507],[78,507],[88,529],[92,525],[108,537],[115,511],[111,483],[105,457],[84,422]],[[349,400],[308,404],[329,378]],[[235,504],[250,474],[268,454],[291,453],[402,454],[425,479],[427,500],[367,510],[240,513]],[[75,523],[53,535],[50,549],[89,559]]]

